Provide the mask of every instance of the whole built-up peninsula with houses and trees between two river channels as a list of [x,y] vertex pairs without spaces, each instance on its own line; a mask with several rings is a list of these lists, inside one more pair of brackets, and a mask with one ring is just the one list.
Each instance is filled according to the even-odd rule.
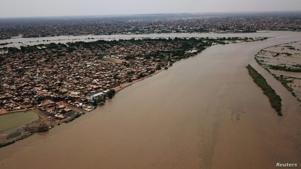
[[39,119],[19,130],[18,138],[8,137],[14,131],[2,132],[0,142],[6,143],[0,147],[73,121],[126,86],[211,45],[263,39],[132,38],[1,48],[6,53],[0,54],[0,115],[31,109]]

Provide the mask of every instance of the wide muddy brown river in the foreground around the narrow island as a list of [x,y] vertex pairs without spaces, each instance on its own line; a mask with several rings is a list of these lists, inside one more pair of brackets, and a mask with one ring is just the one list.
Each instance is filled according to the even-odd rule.
[[[300,103],[257,65],[254,55],[269,46],[300,41],[301,32],[272,36],[215,45],[180,60],[71,123],[1,148],[0,168],[299,167]],[[247,64],[283,99],[282,117],[249,76]]]

